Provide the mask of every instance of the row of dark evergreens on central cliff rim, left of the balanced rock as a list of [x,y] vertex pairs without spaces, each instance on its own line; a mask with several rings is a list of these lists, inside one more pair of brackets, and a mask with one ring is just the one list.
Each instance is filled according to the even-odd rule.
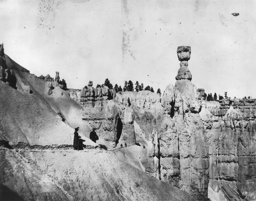
[[[98,87],[104,87],[104,86],[108,87],[109,89],[114,89],[116,92],[121,92],[121,91],[134,91],[134,89],[135,89],[136,92],[142,91],[142,90],[149,90],[149,91],[151,91],[151,92],[154,92],[153,87],[147,86],[147,87],[145,87],[145,89],[144,89],[143,83],[141,83],[141,85],[140,85],[138,81],[136,81],[136,83],[135,83],[135,88],[134,88],[134,84],[132,83],[131,80],[129,80],[128,82],[125,81],[125,82],[124,82],[124,87],[122,88],[121,86],[118,86],[117,84],[115,84],[115,86],[113,87],[113,85],[110,83],[109,79],[107,78],[107,79],[105,80],[104,84],[102,84],[102,85],[99,85],[99,84],[98,84],[98,85],[96,86],[96,88],[98,88]],[[159,95],[161,95],[161,90],[158,89],[156,93],[159,94]]]

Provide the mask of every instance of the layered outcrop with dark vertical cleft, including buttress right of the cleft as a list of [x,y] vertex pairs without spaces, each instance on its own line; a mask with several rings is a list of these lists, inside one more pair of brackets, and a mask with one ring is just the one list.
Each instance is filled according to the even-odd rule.
[[96,129],[103,144],[113,148],[120,143],[134,145],[134,114],[132,109],[115,103],[116,94],[108,87],[92,87],[92,81],[81,90],[82,119]]

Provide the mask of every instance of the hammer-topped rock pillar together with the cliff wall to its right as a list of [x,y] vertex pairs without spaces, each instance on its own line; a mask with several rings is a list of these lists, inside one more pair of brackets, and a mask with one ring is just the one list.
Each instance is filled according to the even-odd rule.
[[[177,53],[186,67],[190,47]],[[256,100],[205,101],[185,67],[163,94],[163,121],[148,144],[146,172],[198,200],[207,199],[208,183],[223,199],[255,200]]]

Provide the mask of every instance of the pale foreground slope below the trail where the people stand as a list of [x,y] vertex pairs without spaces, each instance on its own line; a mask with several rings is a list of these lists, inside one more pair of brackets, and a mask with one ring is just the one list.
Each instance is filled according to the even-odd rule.
[[56,200],[67,200],[61,198],[64,195],[75,200],[193,200],[186,192],[146,175],[109,151],[1,149],[1,159],[3,184],[22,198],[35,195],[50,200],[59,194]]

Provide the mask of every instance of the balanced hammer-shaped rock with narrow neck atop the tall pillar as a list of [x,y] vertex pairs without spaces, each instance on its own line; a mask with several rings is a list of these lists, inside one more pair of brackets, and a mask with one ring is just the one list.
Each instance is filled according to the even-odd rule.
[[190,59],[191,48],[190,46],[179,46],[177,48],[177,55],[180,61],[180,69],[178,70],[178,75],[175,77],[176,80],[188,79],[191,80],[192,76],[187,68],[188,60]]

